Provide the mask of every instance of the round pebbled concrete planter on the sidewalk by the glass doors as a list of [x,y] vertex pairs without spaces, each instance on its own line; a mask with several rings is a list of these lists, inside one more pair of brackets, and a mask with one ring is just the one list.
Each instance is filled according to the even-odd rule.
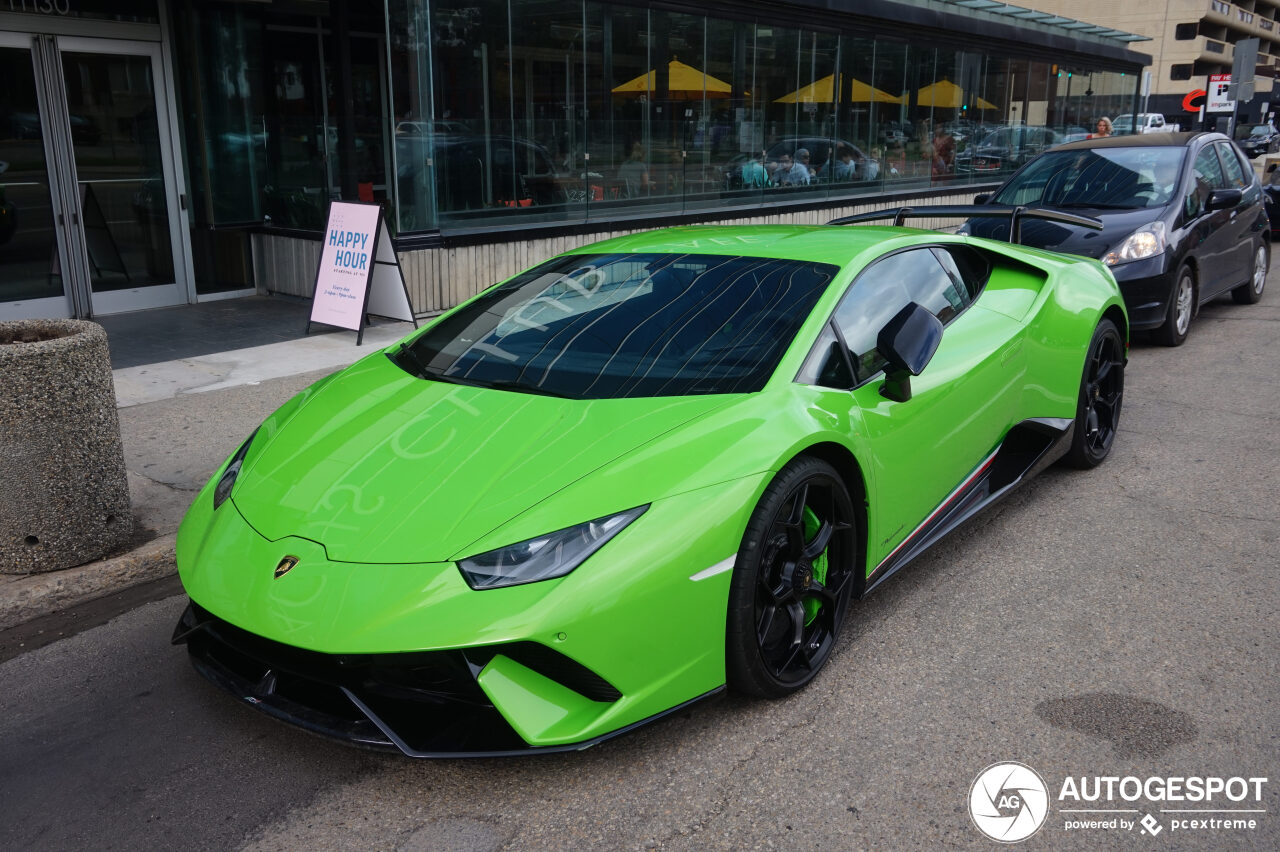
[[0,322],[0,573],[92,562],[132,535],[106,331]]

